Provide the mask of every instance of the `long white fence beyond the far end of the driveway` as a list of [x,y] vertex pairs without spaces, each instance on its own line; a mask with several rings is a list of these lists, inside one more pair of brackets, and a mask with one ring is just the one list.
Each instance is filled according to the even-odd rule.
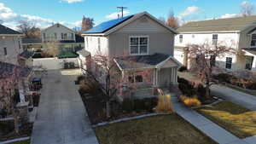
[[58,58],[40,58],[33,59],[33,66],[43,66],[47,70],[58,70],[64,68],[65,62],[73,62],[75,66],[79,66],[79,61],[77,58],[67,58],[67,59],[58,59]]

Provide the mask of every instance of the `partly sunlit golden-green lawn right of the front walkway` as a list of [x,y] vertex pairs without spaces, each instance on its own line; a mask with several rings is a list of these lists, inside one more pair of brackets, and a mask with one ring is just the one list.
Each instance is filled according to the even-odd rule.
[[256,135],[256,112],[232,102],[220,102],[212,107],[200,108],[197,112],[239,138]]

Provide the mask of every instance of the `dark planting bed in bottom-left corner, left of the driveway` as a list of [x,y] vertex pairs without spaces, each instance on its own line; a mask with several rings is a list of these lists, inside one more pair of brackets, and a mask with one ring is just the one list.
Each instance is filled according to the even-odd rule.
[[32,135],[32,127],[33,124],[24,124],[21,128],[19,133],[15,133],[14,130],[14,122],[9,121],[9,122],[0,122],[0,141],[7,141],[7,140],[12,140],[15,138],[20,138],[20,137],[27,137]]

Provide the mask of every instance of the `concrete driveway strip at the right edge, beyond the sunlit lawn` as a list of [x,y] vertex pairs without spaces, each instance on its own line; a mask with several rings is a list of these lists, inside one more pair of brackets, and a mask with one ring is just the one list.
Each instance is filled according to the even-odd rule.
[[219,85],[212,85],[211,90],[213,95],[218,95],[227,101],[235,102],[242,107],[256,111],[256,96],[254,95],[248,95],[235,89]]

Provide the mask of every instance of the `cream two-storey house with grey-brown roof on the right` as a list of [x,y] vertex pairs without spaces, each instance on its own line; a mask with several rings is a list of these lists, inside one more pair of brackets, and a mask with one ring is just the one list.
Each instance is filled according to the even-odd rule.
[[177,31],[174,57],[185,66],[189,63],[184,49],[189,44],[207,42],[244,52],[216,58],[219,66],[228,71],[256,70],[256,16],[189,22]]

